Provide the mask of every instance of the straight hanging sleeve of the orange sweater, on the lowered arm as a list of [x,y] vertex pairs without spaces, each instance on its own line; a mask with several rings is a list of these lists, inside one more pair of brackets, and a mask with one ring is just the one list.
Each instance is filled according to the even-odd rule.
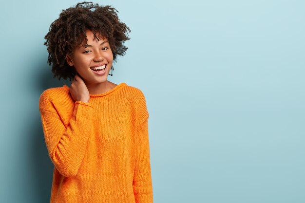
[[136,203],[152,203],[152,176],[150,165],[150,147],[148,136],[149,114],[143,93],[139,95],[136,156],[133,175],[133,193]]

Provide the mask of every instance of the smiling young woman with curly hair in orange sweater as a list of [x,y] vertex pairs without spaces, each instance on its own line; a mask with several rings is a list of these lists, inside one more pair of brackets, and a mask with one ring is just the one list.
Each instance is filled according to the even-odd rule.
[[78,3],[63,10],[45,36],[54,76],[72,80],[39,100],[55,165],[51,203],[152,203],[145,97],[107,80],[130,32],[116,12]]

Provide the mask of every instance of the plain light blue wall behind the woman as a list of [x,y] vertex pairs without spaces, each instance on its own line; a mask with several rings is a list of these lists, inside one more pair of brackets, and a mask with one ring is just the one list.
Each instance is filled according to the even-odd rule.
[[[155,203],[305,202],[304,0],[95,2],[132,30],[109,80],[146,96]],[[1,3],[1,203],[49,202],[43,43],[76,3]]]

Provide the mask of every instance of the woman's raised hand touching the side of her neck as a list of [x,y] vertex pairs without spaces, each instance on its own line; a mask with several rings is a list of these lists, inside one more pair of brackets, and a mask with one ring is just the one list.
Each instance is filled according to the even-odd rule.
[[75,101],[89,103],[90,94],[84,81],[77,74],[70,85],[70,93]]

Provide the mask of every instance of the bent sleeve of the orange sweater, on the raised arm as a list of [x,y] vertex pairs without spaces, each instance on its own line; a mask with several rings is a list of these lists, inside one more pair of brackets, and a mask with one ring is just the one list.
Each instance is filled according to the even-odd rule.
[[40,107],[46,146],[52,162],[63,176],[74,177],[84,158],[91,126],[93,107],[76,101],[68,127],[55,110]]

